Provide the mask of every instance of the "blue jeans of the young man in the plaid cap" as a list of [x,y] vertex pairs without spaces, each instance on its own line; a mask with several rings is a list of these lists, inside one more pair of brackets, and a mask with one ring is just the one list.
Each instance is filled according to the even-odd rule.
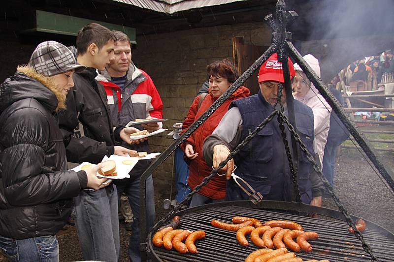
[[0,235],[0,249],[10,262],[59,262],[59,244],[54,235],[26,239]]

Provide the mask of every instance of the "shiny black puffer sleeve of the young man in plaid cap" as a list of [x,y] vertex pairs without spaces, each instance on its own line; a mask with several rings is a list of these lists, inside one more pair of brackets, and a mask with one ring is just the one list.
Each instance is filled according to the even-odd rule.
[[[20,128],[15,128],[18,123]],[[53,171],[45,166],[49,123],[33,108],[20,109],[2,126],[2,187],[11,205],[36,205],[77,196],[80,179],[74,171]]]

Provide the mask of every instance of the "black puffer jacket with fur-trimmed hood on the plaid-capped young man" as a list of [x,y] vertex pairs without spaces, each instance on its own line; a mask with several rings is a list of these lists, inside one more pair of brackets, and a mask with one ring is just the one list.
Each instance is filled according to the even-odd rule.
[[[56,93],[56,94],[55,94]],[[48,78],[20,67],[0,86],[0,235],[54,235],[70,215],[85,172],[66,171],[66,151],[52,115],[64,107]]]

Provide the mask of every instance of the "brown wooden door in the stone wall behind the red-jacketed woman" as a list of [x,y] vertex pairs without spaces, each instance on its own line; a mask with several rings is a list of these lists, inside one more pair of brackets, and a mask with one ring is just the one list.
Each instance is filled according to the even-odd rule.
[[[269,46],[245,45],[243,36],[234,36],[232,38],[232,59],[239,75],[242,75],[258,58],[263,55]],[[243,86],[248,87],[250,95],[257,94],[260,90],[257,77],[259,70],[245,81]]]

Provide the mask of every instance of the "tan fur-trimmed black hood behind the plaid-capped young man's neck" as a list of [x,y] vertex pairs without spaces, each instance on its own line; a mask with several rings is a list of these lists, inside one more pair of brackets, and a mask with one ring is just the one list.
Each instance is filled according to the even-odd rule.
[[18,66],[17,72],[0,85],[0,112],[12,103],[34,98],[51,112],[66,109],[65,99],[52,79],[30,66]]

